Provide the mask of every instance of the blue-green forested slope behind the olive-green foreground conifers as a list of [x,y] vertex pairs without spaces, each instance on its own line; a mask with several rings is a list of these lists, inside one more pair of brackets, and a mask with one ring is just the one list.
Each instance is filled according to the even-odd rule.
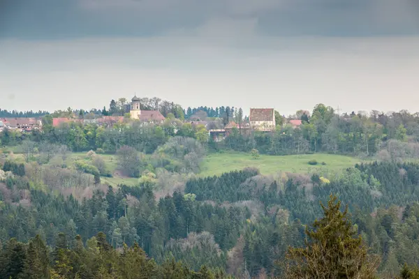
[[[0,241],[4,247],[19,246],[24,255],[34,246],[47,249],[41,240],[52,250],[61,247],[63,232],[69,248],[82,249],[84,243],[87,253],[94,251],[92,237],[106,237],[110,246],[100,244],[104,240],[99,246],[135,250],[138,243],[163,266],[174,257],[195,271],[205,265],[239,278],[281,275],[275,262],[284,262],[288,246],[304,245],[305,225],[322,216],[318,203],[326,204],[335,193],[349,204],[369,253],[381,257],[381,276],[395,276],[403,264],[414,265],[419,258],[419,165],[413,163],[357,165],[329,179],[316,174],[274,178],[245,169],[191,179],[183,193],[159,199],[149,181],[115,189],[61,188],[60,193],[31,188],[19,167],[12,170],[15,174],[0,183]],[[39,239],[31,240],[36,234]],[[12,237],[29,246],[10,242]],[[2,253],[2,261],[10,259]]]

